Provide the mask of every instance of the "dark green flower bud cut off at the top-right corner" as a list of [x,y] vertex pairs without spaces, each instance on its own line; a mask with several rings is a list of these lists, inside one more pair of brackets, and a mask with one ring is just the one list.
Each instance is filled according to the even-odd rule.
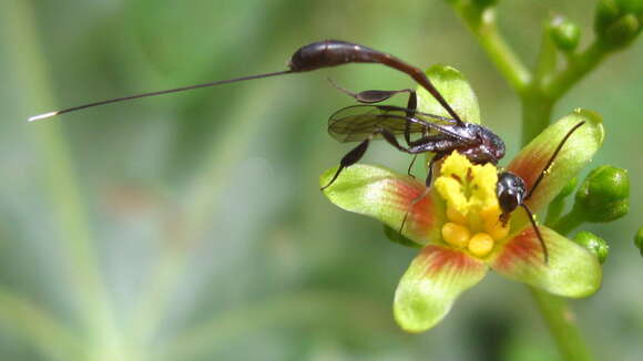
[[594,30],[604,44],[619,49],[631,43],[643,29],[643,0],[601,0]]

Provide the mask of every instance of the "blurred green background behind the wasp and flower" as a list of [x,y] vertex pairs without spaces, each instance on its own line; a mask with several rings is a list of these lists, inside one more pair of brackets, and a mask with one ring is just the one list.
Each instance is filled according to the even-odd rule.
[[[589,42],[594,4],[501,1],[499,21],[532,60],[552,12]],[[351,104],[325,76],[353,90],[415,86],[406,75],[349,65],[25,122],[283,70],[300,45],[343,39],[459,69],[512,155],[517,95],[445,1],[2,0],[0,21],[0,359],[558,360],[527,289],[497,275],[433,330],[400,331],[392,296],[416,250],[320,194],[318,175],[349,149],[326,120]],[[632,245],[643,225],[642,48],[610,58],[554,111],[600,112],[608,137],[592,166],[632,178],[631,213],[585,227],[612,247],[602,290],[572,303],[599,359],[643,354]],[[363,162],[401,172],[408,157],[379,143]]]

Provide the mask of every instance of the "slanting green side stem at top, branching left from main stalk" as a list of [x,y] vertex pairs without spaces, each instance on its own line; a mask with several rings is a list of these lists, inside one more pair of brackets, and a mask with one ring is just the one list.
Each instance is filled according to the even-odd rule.
[[531,72],[498,31],[494,9],[488,8],[480,11],[470,3],[458,3],[453,6],[453,9],[473,33],[498,71],[516,92],[521,94],[531,82]]

